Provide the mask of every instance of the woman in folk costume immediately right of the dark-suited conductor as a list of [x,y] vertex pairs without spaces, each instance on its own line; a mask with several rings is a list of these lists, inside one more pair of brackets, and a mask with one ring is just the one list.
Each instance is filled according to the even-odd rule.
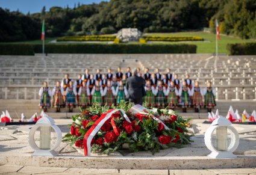
[[155,87],[151,85],[151,81],[146,81],[145,86],[146,96],[144,97],[144,102],[147,103],[147,105],[155,106]]

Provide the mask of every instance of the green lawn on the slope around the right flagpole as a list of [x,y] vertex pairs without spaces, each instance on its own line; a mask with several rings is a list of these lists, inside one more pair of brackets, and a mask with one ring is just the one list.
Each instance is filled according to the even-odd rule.
[[[167,42],[167,43],[188,43],[198,46],[198,54],[213,54],[216,52],[216,35],[208,32],[173,32],[173,33],[147,33],[148,35],[158,36],[198,36],[204,38],[206,41],[180,41],[180,42]],[[226,44],[228,43],[245,43],[255,42],[255,40],[243,40],[240,38],[229,37],[220,35],[220,41],[218,42],[219,54],[226,54]],[[163,41],[157,43],[164,43]]]

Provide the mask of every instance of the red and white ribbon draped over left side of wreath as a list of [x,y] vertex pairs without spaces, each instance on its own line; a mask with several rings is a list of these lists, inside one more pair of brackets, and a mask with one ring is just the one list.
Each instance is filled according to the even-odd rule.
[[93,137],[95,137],[97,132],[101,129],[102,125],[112,116],[112,114],[114,114],[117,111],[122,112],[125,120],[131,123],[130,119],[125,114],[125,111],[123,109],[111,109],[107,113],[102,114],[101,117],[99,117],[99,119],[95,121],[93,126],[90,127],[90,129],[84,135],[83,145],[84,145],[84,155],[85,156],[90,156],[90,154],[91,154],[91,143],[92,143]]

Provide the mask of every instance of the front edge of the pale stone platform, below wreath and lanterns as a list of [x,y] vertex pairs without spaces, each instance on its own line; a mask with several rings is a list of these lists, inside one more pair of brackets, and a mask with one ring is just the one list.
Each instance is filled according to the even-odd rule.
[[40,167],[102,168],[135,170],[183,170],[209,168],[251,168],[255,167],[256,156],[239,156],[236,159],[211,159],[207,156],[169,157],[85,157],[56,156],[31,157],[30,154],[4,155],[0,153],[0,165],[12,164]]

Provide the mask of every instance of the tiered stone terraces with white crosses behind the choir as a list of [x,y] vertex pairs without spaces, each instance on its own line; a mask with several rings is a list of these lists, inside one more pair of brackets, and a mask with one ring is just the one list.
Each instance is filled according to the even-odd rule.
[[[158,67],[161,73],[170,68],[180,79],[189,73],[192,80],[200,82],[201,87],[205,87],[207,81],[212,81],[217,92],[216,99],[226,102],[226,106],[231,101],[243,103],[242,106],[248,106],[248,112],[256,106],[255,55],[220,56],[216,59],[209,54],[37,54],[0,56],[0,63],[0,99],[5,100],[37,100],[43,81],[48,81],[49,86],[53,87],[65,73],[76,79],[86,68],[90,69],[90,73],[95,73],[98,68],[102,73],[107,73],[108,67],[114,72],[119,66],[130,66],[133,69],[140,67],[142,73],[146,67],[151,72]],[[34,109],[37,109],[37,105],[33,104]],[[225,109],[222,106],[218,108],[227,111],[226,106]],[[240,112],[242,110],[239,109]]]

